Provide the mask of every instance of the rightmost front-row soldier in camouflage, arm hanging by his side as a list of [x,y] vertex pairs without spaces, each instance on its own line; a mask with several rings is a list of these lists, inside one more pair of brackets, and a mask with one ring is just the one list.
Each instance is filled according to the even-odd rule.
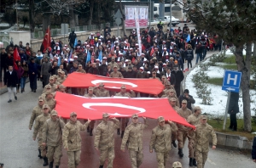
[[212,137],[212,149],[216,148],[217,136],[212,126],[207,124],[207,116],[201,115],[201,123],[195,126],[195,159],[197,168],[204,168],[209,152],[209,138]]

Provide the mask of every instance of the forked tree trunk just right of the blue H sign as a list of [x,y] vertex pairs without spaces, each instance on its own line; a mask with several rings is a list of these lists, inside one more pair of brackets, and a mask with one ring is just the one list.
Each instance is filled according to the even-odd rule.
[[244,131],[252,131],[251,122],[251,98],[250,98],[250,70],[252,59],[252,43],[247,44],[246,60],[242,55],[243,46],[236,47],[236,64],[238,71],[241,71],[241,92],[243,103]]

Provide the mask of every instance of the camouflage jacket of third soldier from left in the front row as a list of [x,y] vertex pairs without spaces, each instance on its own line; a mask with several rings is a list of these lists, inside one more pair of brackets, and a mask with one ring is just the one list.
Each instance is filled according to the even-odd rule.
[[119,120],[115,119],[114,122],[102,120],[96,128],[96,135],[94,139],[94,146],[99,149],[113,148],[114,138],[113,132],[119,128]]

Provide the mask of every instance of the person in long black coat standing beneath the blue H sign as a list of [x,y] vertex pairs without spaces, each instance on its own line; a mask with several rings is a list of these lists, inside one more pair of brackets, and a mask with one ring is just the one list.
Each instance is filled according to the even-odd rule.
[[237,131],[237,122],[236,122],[236,113],[239,113],[239,93],[238,92],[230,92],[230,105],[228,114],[230,114],[230,130],[236,132]]

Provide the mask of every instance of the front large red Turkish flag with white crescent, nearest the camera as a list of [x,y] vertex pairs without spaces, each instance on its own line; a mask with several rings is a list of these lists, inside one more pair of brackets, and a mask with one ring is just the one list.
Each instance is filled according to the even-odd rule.
[[137,113],[152,119],[163,116],[166,120],[195,128],[172,109],[167,98],[84,98],[56,92],[55,99],[55,109],[63,118],[69,118],[71,112],[76,112],[79,119],[90,120],[102,119],[103,113],[110,117],[131,117]]

